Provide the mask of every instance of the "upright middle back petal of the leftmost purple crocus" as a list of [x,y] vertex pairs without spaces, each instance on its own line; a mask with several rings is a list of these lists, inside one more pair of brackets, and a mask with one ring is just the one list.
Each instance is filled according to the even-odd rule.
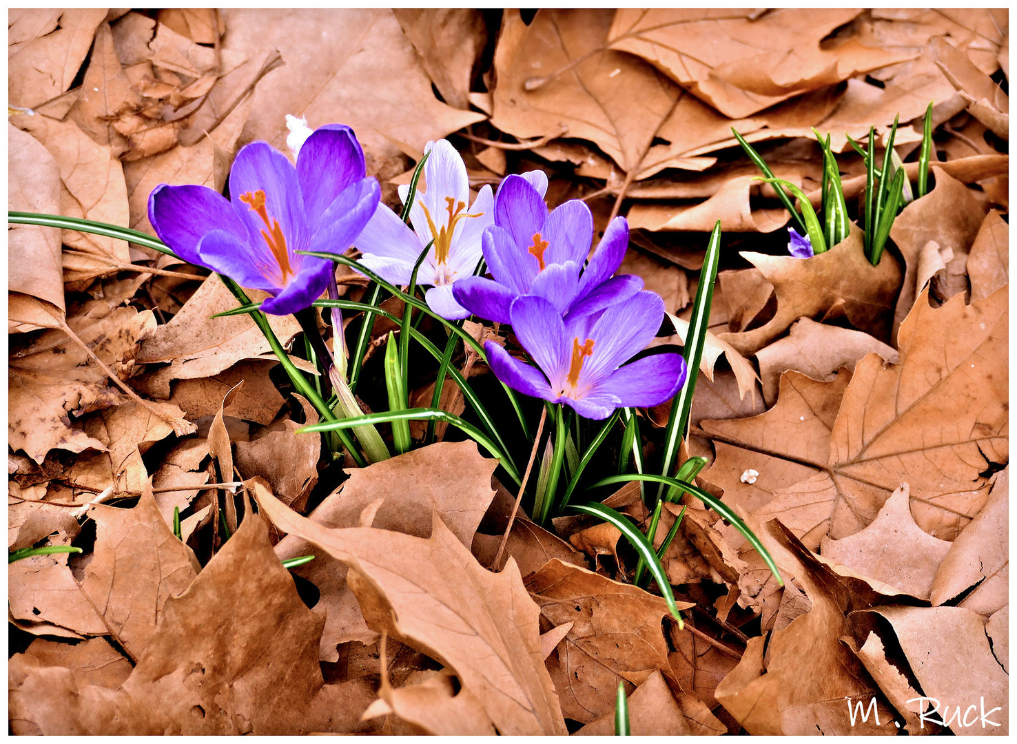
[[267,142],[251,142],[244,146],[230,171],[230,200],[247,226],[252,244],[263,243],[261,232],[268,232],[268,228],[241,197],[257,191],[264,192],[264,210],[271,222],[279,222],[287,247],[291,251],[301,250],[307,244],[308,229],[297,169]]

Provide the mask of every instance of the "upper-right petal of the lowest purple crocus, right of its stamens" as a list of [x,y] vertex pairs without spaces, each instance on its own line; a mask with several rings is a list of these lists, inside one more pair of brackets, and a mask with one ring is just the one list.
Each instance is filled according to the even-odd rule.
[[664,301],[655,292],[640,292],[604,310],[590,329],[596,346],[580,374],[581,387],[596,385],[643,351],[663,319]]

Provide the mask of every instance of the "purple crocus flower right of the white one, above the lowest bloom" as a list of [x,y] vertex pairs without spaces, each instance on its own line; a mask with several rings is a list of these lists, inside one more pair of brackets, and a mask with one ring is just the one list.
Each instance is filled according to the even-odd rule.
[[629,224],[615,218],[590,257],[593,215],[583,201],[565,201],[548,213],[543,196],[525,178],[508,176],[494,198],[494,225],[484,231],[484,258],[492,280],[464,278],[457,302],[488,320],[510,322],[516,298],[547,300],[559,315],[579,317],[632,297],[643,289],[634,275],[613,276],[629,247]]

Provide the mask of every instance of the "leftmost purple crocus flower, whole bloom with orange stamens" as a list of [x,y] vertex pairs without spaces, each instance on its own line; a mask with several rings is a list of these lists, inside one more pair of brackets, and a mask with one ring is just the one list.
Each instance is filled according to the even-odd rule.
[[335,270],[296,251],[346,251],[377,207],[377,181],[364,175],[353,130],[330,124],[307,137],[296,167],[267,142],[243,147],[230,171],[232,203],[204,186],[157,186],[148,220],[185,261],[267,292],[261,309],[288,315],[309,307]]

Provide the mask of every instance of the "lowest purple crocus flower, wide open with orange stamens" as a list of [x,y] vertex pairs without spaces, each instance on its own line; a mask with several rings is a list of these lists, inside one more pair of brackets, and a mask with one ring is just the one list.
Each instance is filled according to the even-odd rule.
[[646,348],[664,317],[664,301],[639,292],[606,310],[562,320],[542,297],[520,297],[510,311],[513,329],[539,370],[487,342],[487,362],[499,380],[527,395],[571,406],[587,419],[617,408],[656,406],[685,380],[679,354],[626,362]]

